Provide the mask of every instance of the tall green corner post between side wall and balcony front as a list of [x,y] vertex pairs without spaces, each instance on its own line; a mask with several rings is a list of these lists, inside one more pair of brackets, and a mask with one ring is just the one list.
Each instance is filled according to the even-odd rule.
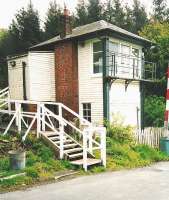
[[106,76],[108,75],[108,50],[109,50],[109,39],[103,38],[103,112],[104,112],[104,119],[110,120],[110,85],[109,82],[106,80]]

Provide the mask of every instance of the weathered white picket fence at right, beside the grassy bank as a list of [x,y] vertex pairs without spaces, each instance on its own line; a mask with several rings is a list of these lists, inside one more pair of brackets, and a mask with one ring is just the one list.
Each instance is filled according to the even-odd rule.
[[160,138],[167,136],[167,131],[163,127],[148,127],[144,130],[136,130],[134,136],[137,144],[159,148]]

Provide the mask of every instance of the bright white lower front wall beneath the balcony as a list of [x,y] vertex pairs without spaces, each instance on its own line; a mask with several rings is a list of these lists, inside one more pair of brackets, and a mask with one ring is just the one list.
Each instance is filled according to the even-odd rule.
[[[139,82],[131,82],[125,90],[124,81],[115,81],[110,89],[110,120],[140,127]],[[118,121],[118,122],[119,122]],[[139,124],[137,124],[139,121]]]

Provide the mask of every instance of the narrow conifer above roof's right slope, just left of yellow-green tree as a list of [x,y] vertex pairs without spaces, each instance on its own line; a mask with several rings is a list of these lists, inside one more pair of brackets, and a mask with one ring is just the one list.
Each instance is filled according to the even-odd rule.
[[133,33],[138,33],[138,31],[140,31],[148,23],[148,17],[145,7],[141,5],[138,0],[134,0],[132,9],[132,23]]

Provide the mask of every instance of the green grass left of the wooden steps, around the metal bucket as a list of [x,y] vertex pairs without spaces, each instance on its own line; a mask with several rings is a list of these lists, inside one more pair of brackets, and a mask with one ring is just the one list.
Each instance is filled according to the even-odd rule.
[[[16,139],[17,137],[15,137]],[[13,137],[2,137],[1,139],[12,141]],[[18,142],[18,141],[17,141]],[[54,180],[55,173],[74,169],[68,161],[55,158],[55,153],[47,147],[42,140],[29,136],[25,142],[26,168],[24,170],[10,170],[9,157],[0,156],[0,177],[6,177],[21,172],[26,176],[15,177],[0,181],[0,191],[14,190],[18,187],[32,185],[43,181]]]

